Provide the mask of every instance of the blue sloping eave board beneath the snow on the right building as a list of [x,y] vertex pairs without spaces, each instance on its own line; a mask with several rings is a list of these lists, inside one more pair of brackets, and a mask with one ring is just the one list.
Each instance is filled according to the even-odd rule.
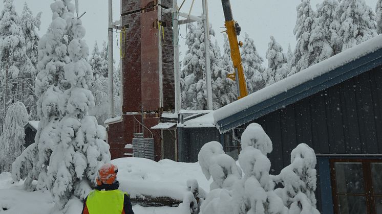
[[382,49],[367,54],[363,57],[359,57],[358,59],[348,62],[343,66],[339,66],[330,72],[315,77],[285,92],[277,94],[276,96],[271,97],[263,102],[249,106],[243,111],[218,120],[216,121],[216,126],[221,133],[224,133],[228,130],[256,120],[263,115],[307,98],[312,94],[365,73],[368,70],[371,70],[380,65],[382,65]]

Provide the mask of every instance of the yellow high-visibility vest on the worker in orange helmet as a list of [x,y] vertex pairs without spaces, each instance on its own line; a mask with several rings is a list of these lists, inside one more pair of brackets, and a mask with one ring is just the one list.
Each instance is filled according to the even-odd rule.
[[90,214],[121,214],[124,194],[119,189],[112,191],[93,190],[86,200],[86,206]]

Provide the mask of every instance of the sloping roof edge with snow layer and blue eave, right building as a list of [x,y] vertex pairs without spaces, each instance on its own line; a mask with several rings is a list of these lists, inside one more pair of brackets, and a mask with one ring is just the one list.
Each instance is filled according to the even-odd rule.
[[382,65],[382,35],[267,86],[214,112],[221,132],[236,128]]

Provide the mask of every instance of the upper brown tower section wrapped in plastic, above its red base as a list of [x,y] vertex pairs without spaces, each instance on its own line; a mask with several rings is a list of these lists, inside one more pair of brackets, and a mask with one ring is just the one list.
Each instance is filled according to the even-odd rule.
[[[122,26],[126,28],[122,58],[123,112],[161,111],[158,45],[158,1],[122,1]],[[172,1],[162,1],[171,6]],[[161,16],[163,110],[175,108],[172,14]]]

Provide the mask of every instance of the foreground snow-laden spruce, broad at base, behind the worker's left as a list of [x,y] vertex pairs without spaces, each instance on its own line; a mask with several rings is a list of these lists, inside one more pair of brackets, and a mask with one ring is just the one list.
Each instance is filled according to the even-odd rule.
[[46,183],[61,209],[74,195],[84,199],[95,183],[97,170],[110,161],[109,146],[93,116],[88,115],[94,97],[87,82],[92,68],[87,62],[89,49],[83,40],[85,29],[81,20],[72,21],[73,39],[68,45],[71,62],[64,65],[65,80],[70,87],[59,95],[63,115],[58,124],[60,141],[52,146]]

